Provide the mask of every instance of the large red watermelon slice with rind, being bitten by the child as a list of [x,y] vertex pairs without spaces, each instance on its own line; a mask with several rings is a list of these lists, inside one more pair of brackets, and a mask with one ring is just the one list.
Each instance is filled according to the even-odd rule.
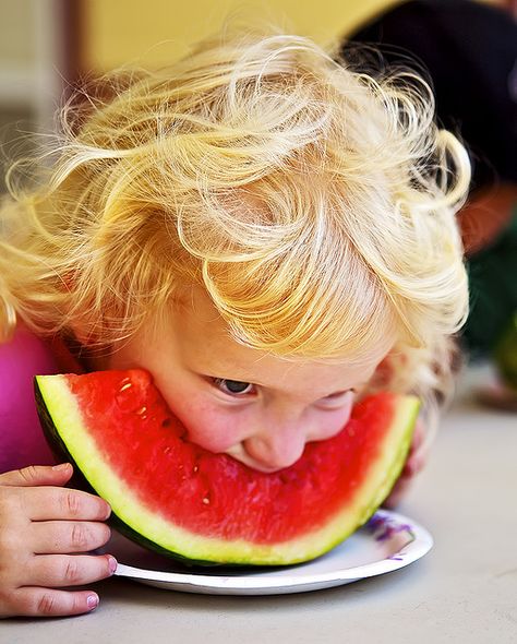
[[142,369],[35,379],[51,445],[137,542],[195,563],[308,561],[366,522],[404,465],[419,403],[381,393],[273,474],[187,440]]

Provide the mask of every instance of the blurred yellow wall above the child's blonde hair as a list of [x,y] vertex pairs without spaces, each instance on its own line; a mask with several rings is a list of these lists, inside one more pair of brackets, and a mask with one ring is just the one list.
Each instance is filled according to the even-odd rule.
[[88,0],[84,4],[85,61],[97,70],[132,61],[165,64],[232,16],[268,21],[327,44],[399,1]]

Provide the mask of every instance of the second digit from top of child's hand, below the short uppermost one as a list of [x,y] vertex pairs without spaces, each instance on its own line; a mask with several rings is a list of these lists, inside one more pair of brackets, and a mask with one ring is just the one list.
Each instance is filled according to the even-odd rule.
[[106,521],[111,513],[100,497],[68,488],[24,490],[23,504],[32,521]]

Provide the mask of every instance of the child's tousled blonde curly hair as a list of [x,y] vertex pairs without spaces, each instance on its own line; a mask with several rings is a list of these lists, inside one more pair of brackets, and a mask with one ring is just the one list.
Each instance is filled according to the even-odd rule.
[[374,79],[298,36],[227,32],[109,86],[63,109],[37,189],[8,177],[7,311],[39,335],[81,321],[84,342],[110,346],[202,285],[251,347],[361,359],[394,327],[382,386],[446,382],[467,315],[455,212],[469,166],[424,81]]

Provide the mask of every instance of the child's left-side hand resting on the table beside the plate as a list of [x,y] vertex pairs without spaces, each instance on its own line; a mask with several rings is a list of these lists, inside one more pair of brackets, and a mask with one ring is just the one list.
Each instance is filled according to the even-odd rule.
[[[62,591],[110,576],[108,554],[76,554],[104,546],[106,501],[62,486],[72,466],[27,467],[0,475],[0,617],[64,616],[98,604],[92,591]],[[74,554],[72,554],[74,553]]]

